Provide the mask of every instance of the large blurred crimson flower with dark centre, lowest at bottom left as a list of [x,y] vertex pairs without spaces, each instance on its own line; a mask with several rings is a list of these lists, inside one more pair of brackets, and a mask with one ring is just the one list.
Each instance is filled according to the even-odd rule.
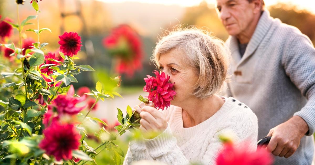
[[61,159],[72,159],[72,150],[80,146],[80,134],[71,124],[52,124],[43,131],[44,139],[39,147],[46,151],[46,154],[55,156],[57,161]]

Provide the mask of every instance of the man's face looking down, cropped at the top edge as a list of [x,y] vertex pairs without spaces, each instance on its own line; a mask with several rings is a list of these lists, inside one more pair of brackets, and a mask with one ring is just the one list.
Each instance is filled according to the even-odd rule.
[[254,19],[254,8],[247,0],[217,0],[218,16],[232,36],[246,31]]

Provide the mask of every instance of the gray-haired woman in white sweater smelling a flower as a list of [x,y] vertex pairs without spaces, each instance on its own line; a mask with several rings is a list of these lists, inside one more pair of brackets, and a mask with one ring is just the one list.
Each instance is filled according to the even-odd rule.
[[157,43],[153,60],[170,76],[176,95],[166,110],[145,104],[136,109],[140,132],[160,134],[130,141],[124,164],[215,164],[225,133],[234,134],[234,144],[247,144],[243,149],[256,150],[256,115],[235,98],[216,95],[226,81],[229,56],[220,39],[195,28],[170,32]]

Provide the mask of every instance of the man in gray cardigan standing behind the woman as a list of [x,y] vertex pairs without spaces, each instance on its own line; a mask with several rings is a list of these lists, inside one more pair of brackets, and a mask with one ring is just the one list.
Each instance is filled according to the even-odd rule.
[[227,93],[255,112],[258,138],[272,136],[267,149],[275,164],[308,165],[314,150],[315,49],[263,6],[263,0],[217,0],[230,34],[233,75]]

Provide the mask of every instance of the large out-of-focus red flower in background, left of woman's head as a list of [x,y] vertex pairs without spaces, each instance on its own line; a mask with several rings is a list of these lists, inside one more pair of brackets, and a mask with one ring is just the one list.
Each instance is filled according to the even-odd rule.
[[116,71],[131,77],[142,69],[141,40],[137,32],[128,25],[120,25],[103,39],[103,45],[110,55],[117,59]]

